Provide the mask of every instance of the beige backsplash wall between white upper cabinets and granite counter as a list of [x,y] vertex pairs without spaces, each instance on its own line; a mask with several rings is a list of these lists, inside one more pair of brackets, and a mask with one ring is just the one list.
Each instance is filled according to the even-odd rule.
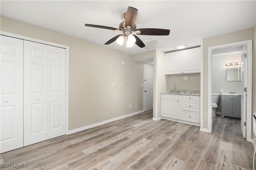
[[174,90],[174,84],[176,90],[200,90],[200,73],[168,75],[168,91]]

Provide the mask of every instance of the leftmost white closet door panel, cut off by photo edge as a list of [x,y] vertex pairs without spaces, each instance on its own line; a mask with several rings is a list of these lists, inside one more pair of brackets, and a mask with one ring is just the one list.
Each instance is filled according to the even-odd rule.
[[23,40],[1,36],[0,152],[23,147]]

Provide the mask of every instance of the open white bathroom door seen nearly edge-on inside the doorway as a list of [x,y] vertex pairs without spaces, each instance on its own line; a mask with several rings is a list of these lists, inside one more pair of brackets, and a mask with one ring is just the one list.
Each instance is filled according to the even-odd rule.
[[246,138],[246,126],[244,126],[244,122],[246,122],[246,91],[244,88],[247,87],[247,60],[244,54],[246,54],[246,45],[243,46],[241,52],[241,131],[243,138]]

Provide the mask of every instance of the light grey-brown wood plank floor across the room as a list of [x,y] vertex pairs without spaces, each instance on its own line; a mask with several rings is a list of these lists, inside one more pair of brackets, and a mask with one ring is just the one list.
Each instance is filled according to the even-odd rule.
[[22,169],[253,169],[254,147],[242,138],[240,120],[213,119],[211,134],[147,111],[1,154]]

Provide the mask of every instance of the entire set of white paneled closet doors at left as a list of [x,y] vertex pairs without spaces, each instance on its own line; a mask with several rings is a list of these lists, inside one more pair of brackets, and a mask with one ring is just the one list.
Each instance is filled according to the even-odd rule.
[[66,49],[1,35],[0,109],[1,153],[66,134]]

